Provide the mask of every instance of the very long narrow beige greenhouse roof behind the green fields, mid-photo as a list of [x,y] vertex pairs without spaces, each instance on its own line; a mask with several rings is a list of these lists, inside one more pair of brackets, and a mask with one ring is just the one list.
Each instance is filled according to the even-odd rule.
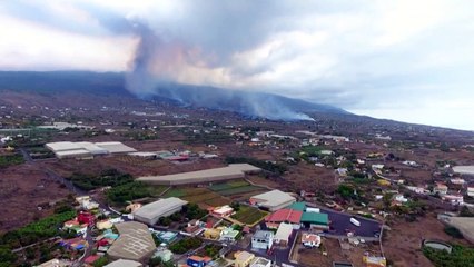
[[210,182],[230,179],[244,178],[246,174],[256,174],[261,171],[260,168],[248,164],[231,164],[227,167],[189,171],[176,175],[166,176],[145,176],[139,177],[139,181],[144,181],[151,185],[187,185],[187,184],[199,184]]

